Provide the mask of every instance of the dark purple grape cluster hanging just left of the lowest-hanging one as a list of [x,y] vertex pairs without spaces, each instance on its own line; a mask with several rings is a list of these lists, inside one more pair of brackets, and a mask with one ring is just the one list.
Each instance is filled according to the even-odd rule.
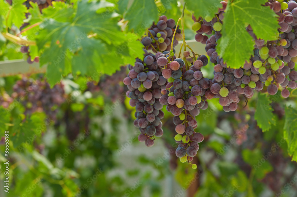
[[129,104],[136,109],[134,125],[140,130],[138,140],[149,147],[154,145],[155,137],[163,135],[160,120],[164,112],[158,99],[167,81],[158,68],[155,55],[143,50],[143,61],[137,58],[134,66],[128,65],[130,71],[123,82],[129,89],[126,93]]

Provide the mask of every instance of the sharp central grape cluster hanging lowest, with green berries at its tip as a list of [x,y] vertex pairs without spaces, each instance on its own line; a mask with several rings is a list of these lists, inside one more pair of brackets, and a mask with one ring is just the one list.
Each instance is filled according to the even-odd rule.
[[[200,109],[208,107],[202,96],[211,83],[209,79],[203,78],[202,72],[195,66],[201,68],[207,65],[208,60],[205,55],[201,55],[195,61],[196,64],[187,70],[184,61],[176,58],[173,50],[158,52],[156,56],[162,76],[168,80],[166,88],[161,90],[159,102],[166,105],[166,110],[174,115],[173,123],[177,133],[175,141],[179,144],[176,156],[181,162],[191,162],[199,149],[198,143],[204,139],[201,133],[194,132],[197,128],[195,117],[200,113]],[[184,57],[189,57],[189,53],[184,52]]]

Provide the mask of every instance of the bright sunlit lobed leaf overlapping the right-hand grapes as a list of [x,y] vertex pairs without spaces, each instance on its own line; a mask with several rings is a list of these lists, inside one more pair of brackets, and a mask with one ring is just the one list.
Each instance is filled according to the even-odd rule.
[[250,24],[257,38],[275,40],[279,28],[277,15],[266,6],[266,0],[229,1],[225,10],[222,37],[217,52],[230,68],[240,68],[254,55],[254,41],[245,29]]

